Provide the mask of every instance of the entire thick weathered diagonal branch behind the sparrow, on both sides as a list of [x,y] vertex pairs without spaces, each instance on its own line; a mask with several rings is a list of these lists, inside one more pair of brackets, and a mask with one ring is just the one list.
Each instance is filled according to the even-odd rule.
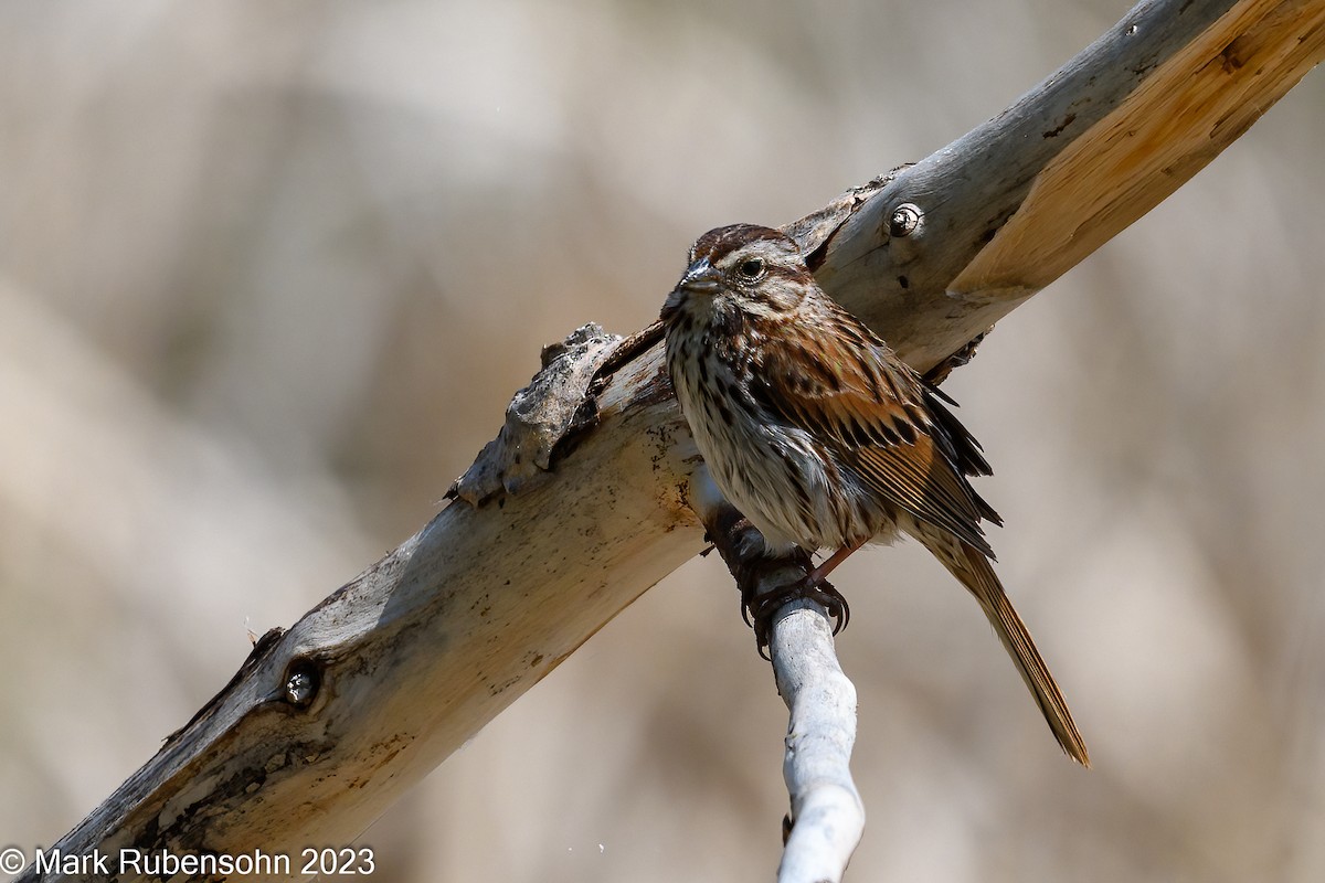
[[[939,367],[1232,143],[1321,58],[1322,20],[1325,0],[1142,4],[998,118],[792,229],[829,294]],[[457,499],[261,641],[57,847],[347,842],[693,556],[697,458],[661,353],[586,397],[611,343],[586,330],[554,352],[555,406],[515,408]]]

